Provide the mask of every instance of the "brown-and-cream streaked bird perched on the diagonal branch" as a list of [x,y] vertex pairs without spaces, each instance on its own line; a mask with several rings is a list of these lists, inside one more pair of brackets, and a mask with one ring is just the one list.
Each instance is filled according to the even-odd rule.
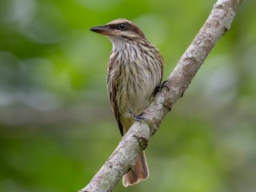
[[[112,43],[106,66],[107,92],[123,136],[159,90],[164,59],[142,30],[125,18],[90,30],[106,36]],[[143,150],[135,165],[122,177],[122,184],[132,186],[148,178],[149,174]]]

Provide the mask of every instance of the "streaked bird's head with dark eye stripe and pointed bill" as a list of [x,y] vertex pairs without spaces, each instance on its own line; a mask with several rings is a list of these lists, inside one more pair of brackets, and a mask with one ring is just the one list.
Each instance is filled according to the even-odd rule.
[[145,38],[142,30],[124,18],[118,18],[105,26],[94,26],[90,30],[110,38],[111,42]]

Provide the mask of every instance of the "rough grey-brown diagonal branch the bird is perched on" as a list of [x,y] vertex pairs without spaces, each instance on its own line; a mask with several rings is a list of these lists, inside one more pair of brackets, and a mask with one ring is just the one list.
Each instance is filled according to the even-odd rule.
[[142,115],[146,121],[134,122],[110,158],[80,192],[103,192],[114,189],[122,175],[130,170],[138,155],[146,149],[150,138],[158,130],[162,118],[178,98],[182,97],[210,50],[226,30],[230,29],[230,24],[241,3],[242,0],[216,2],[201,30],[167,79],[165,86],[169,89],[163,88],[158,92]]

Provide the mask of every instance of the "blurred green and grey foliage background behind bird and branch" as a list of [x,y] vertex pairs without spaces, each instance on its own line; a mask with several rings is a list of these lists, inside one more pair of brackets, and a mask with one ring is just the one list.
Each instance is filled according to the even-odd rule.
[[[164,79],[215,1],[1,0],[0,191],[78,191],[120,140],[106,94],[115,18],[137,23]],[[146,149],[150,178],[114,191],[256,191],[256,2],[245,0]]]

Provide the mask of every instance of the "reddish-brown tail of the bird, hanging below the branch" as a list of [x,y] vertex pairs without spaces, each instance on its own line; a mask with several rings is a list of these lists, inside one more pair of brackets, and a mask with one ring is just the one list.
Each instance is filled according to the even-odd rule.
[[123,186],[133,186],[134,184],[148,178],[150,176],[149,169],[147,167],[146,156],[144,150],[139,156],[135,166],[122,177]]

